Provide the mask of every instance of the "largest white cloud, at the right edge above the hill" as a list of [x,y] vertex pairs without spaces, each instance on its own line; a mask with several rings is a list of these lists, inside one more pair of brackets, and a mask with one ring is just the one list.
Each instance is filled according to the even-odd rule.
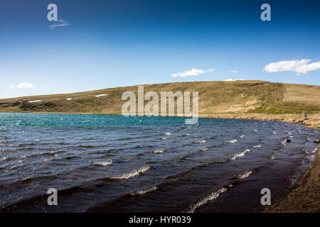
[[320,61],[308,64],[310,61],[311,59],[272,62],[269,65],[266,65],[263,70],[267,72],[292,71],[297,72],[297,75],[299,75],[301,73],[320,69]]

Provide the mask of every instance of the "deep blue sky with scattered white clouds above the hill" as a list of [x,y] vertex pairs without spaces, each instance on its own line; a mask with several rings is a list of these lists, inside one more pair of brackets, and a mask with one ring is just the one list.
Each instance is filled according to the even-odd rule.
[[238,78],[320,85],[319,28],[317,0],[1,0],[0,98]]

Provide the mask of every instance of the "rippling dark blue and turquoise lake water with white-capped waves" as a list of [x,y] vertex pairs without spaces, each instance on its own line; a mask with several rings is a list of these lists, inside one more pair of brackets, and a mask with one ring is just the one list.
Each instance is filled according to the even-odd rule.
[[[0,114],[0,211],[260,211],[260,190],[274,201],[297,182],[320,137],[293,123],[184,122]],[[48,206],[49,188],[58,206]]]

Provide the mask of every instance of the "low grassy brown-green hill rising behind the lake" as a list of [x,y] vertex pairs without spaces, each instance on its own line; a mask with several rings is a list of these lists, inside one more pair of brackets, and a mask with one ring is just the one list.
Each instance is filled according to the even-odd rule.
[[[121,114],[122,94],[137,86],[0,99],[1,112]],[[199,92],[199,114],[319,113],[320,87],[265,81],[177,82],[144,85],[144,92]],[[99,96],[106,94],[105,96]],[[147,101],[146,101],[147,102]]]

